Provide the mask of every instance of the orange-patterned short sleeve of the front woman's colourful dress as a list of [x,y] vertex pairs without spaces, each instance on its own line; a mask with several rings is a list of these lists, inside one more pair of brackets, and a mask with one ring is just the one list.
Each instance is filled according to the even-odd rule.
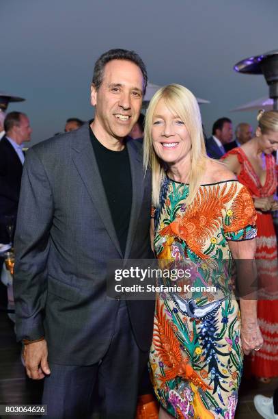
[[251,240],[257,236],[257,218],[251,194],[238,181],[236,192],[225,204],[222,212],[223,232],[226,240]]

